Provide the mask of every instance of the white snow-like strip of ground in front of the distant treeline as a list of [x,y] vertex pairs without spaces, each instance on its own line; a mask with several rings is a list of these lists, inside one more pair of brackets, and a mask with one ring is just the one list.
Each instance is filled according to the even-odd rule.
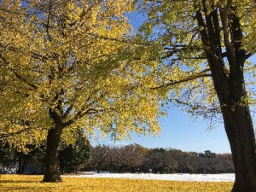
[[153,173],[95,173],[84,172],[79,175],[66,175],[64,177],[108,177],[108,178],[133,178],[157,179],[170,181],[205,181],[205,182],[234,182],[235,174],[153,174]]

